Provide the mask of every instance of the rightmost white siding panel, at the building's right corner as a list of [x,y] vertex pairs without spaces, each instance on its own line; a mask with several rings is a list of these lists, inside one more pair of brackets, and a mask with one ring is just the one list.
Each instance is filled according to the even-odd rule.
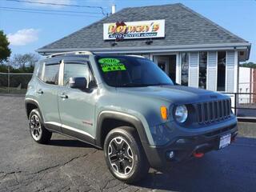
[[234,51],[226,51],[226,92],[234,92]]

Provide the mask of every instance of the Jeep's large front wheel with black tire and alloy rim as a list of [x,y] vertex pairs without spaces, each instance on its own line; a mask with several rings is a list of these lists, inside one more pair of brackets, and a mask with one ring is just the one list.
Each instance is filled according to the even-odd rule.
[[104,142],[104,154],[110,173],[122,182],[138,182],[150,169],[142,143],[133,127],[120,126],[110,130]]

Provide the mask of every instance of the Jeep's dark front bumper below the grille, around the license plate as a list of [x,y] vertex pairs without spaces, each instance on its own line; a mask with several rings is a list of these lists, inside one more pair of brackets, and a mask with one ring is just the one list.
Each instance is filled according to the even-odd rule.
[[[219,141],[222,135],[231,134],[231,142],[238,134],[237,123],[225,123],[219,129],[210,130],[203,133],[194,133],[193,135],[182,134],[172,139],[165,146],[143,145],[150,166],[153,168],[162,168],[174,162],[182,162],[193,157],[193,154],[205,154],[210,150],[219,149]],[[167,154],[174,151],[174,158],[168,158]]]

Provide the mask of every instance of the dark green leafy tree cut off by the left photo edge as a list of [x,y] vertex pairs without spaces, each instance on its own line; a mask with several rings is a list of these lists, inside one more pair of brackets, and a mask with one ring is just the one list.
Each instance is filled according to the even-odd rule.
[[10,57],[11,51],[8,47],[9,45],[10,42],[8,42],[6,34],[4,34],[2,30],[0,30],[0,63],[6,61],[7,58]]

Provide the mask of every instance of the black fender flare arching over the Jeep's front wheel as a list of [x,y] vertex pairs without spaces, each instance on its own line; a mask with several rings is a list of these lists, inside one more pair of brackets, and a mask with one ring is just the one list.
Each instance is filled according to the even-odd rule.
[[149,144],[144,126],[138,118],[134,117],[133,115],[125,114],[118,111],[104,110],[98,115],[98,119],[97,119],[97,126],[96,126],[96,145],[97,146],[102,147],[102,142],[104,142],[102,141],[102,137],[101,137],[102,123],[106,118],[114,118],[124,122],[129,122],[137,130],[138,136],[142,142],[142,146]]

